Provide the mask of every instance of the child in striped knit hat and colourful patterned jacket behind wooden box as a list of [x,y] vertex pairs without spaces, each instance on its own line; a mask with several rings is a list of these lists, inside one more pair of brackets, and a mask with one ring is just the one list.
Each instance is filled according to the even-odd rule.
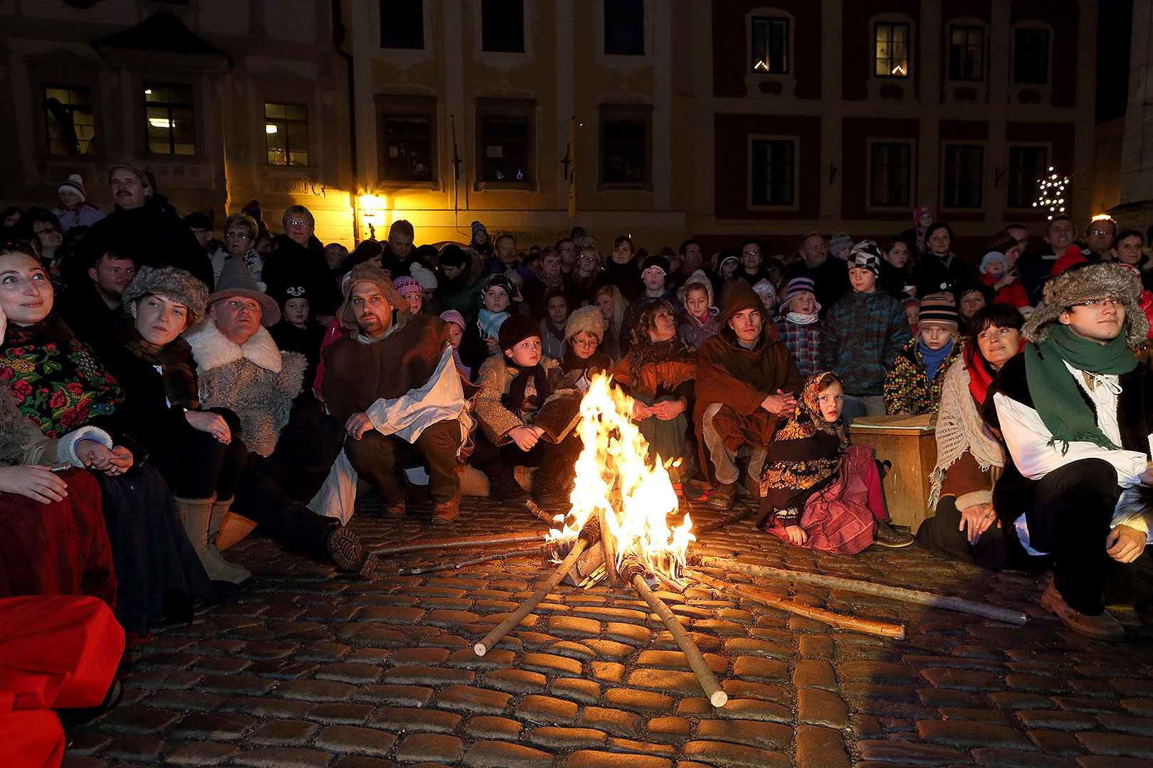
[[965,350],[960,315],[951,294],[921,299],[918,330],[897,353],[884,379],[887,413],[936,413],[944,373]]

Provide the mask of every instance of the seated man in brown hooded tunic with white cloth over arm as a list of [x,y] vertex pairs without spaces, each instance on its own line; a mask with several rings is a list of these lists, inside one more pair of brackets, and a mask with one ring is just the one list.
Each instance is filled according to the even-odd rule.
[[387,516],[405,514],[402,467],[423,466],[436,500],[432,524],[460,510],[458,455],[472,428],[444,320],[413,314],[389,276],[353,267],[337,313],[351,333],[324,358],[324,401],[352,440],[345,453],[375,484]]

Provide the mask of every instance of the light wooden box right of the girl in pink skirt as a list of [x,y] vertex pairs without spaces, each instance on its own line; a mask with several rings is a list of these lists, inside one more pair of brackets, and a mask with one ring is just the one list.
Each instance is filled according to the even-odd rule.
[[928,416],[868,416],[849,428],[853,443],[872,446],[886,467],[882,487],[894,525],[914,533],[933,516],[928,508],[929,474],[936,466],[936,429]]

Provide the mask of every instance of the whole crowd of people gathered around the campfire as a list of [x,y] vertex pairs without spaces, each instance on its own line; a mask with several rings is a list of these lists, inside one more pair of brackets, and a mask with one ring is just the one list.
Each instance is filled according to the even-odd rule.
[[918,208],[880,245],[811,233],[706,258],[621,236],[608,259],[580,227],[522,252],[476,221],[438,250],[398,220],[349,252],[303,206],[273,236],[253,200],[217,241],[141,168],[108,185],[107,215],[77,176],[56,210],[5,212],[0,596],[93,595],[135,642],[250,578],[221,552],[256,527],[371,573],[349,488],[435,525],[467,466],[500,500],[563,503],[583,391],[608,375],[675,482],[714,509],[747,493],[782,541],[912,543],[847,427],[935,417],[915,540],[1053,568],[1043,604],[1095,637],[1121,634],[1110,600],[1153,599],[1153,265],[1111,220],[1084,245],[1058,215],[1038,252],[1010,226],[960,256]]

